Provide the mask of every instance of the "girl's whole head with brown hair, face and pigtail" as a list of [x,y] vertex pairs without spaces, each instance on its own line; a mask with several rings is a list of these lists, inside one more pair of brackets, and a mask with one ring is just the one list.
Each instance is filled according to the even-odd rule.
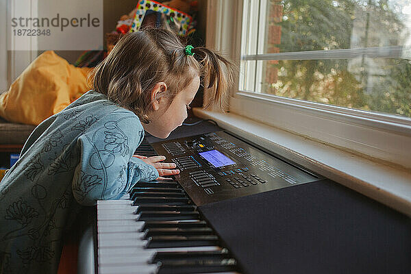
[[147,132],[166,138],[186,119],[201,81],[210,92],[208,103],[221,108],[232,84],[231,62],[203,47],[187,55],[185,46],[166,29],[126,34],[96,66],[94,90],[134,112]]

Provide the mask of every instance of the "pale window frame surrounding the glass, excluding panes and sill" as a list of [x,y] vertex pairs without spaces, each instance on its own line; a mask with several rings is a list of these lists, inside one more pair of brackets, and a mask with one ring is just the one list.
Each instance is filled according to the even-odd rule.
[[[236,8],[227,2],[231,1],[208,1],[206,41],[208,47],[225,53],[240,66],[240,76],[231,90],[229,112],[378,162],[411,169],[411,119],[240,90],[245,73],[240,62],[251,58],[242,53],[246,42],[252,39],[247,41],[245,36],[244,1],[236,1]],[[219,34],[219,40],[215,34]],[[373,49],[366,51],[372,53]],[[266,57],[254,55],[253,58]]]

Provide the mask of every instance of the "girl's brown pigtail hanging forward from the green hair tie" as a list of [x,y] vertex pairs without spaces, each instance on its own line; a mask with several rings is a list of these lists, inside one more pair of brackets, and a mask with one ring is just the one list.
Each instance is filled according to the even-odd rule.
[[201,76],[204,88],[208,92],[205,108],[219,102],[222,110],[227,108],[228,90],[234,84],[236,66],[218,53],[205,47],[195,47],[191,50],[193,57],[201,66]]

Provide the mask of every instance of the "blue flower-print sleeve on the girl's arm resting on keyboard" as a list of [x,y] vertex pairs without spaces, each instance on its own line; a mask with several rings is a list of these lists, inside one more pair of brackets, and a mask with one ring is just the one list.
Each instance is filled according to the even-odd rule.
[[97,199],[118,197],[136,182],[158,177],[153,166],[132,157],[143,137],[140,121],[129,112],[114,112],[79,136],[79,164],[72,184],[75,199],[93,205]]

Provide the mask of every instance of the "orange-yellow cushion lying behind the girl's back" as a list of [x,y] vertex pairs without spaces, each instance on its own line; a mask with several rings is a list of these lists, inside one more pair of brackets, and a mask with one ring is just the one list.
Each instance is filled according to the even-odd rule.
[[90,90],[86,80],[90,70],[45,51],[0,95],[0,116],[10,122],[38,125]]

